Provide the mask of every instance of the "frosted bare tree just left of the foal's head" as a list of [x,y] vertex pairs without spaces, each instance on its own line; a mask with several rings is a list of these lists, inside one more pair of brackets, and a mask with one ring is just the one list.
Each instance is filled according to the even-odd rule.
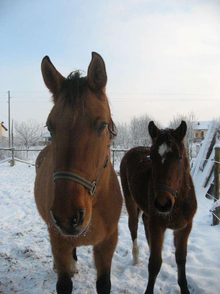
[[158,128],[161,128],[161,123],[149,114],[133,116],[130,121],[130,137],[132,146],[150,146],[151,138],[148,132],[148,124],[153,120]]

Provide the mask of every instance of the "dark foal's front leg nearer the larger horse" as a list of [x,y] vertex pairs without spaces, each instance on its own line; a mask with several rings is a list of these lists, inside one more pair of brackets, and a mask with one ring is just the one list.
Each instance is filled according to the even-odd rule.
[[150,242],[150,257],[148,263],[148,285],[145,294],[153,294],[153,288],[156,277],[160,271],[162,264],[161,251],[163,247],[163,236],[165,228],[155,224],[154,221],[149,220],[149,242]]

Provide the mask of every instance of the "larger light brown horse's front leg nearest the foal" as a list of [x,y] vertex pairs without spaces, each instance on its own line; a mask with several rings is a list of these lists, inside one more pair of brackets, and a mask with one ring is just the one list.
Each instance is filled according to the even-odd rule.
[[96,290],[98,294],[109,294],[111,291],[111,264],[117,241],[118,229],[108,239],[93,247],[97,269]]

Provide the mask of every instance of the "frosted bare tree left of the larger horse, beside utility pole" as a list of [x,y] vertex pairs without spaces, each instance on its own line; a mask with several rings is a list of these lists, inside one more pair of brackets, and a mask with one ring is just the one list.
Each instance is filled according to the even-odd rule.
[[39,124],[34,119],[28,119],[27,122],[21,123],[16,121],[14,127],[16,130],[17,143],[26,147],[26,149],[29,149],[31,146],[33,146],[45,132],[43,129],[43,124]]

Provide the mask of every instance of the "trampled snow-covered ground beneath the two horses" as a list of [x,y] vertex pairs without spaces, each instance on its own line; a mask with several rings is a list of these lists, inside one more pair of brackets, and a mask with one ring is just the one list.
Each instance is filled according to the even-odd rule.
[[[118,168],[118,167],[116,167]],[[16,162],[0,164],[0,293],[56,293],[56,273],[45,223],[34,202],[35,167]],[[207,207],[212,202],[197,195]],[[119,239],[112,260],[111,293],[141,293],[148,281],[149,248],[144,226],[139,222],[138,246],[141,263],[132,266],[132,241],[125,210],[119,221]],[[192,294],[220,292],[220,225],[212,227],[212,216],[198,202],[193,229],[188,241],[186,276]],[[167,230],[163,264],[156,279],[155,294],[180,293],[173,235]],[[73,280],[73,293],[96,293],[96,270],[92,247],[77,249],[79,274]]]

